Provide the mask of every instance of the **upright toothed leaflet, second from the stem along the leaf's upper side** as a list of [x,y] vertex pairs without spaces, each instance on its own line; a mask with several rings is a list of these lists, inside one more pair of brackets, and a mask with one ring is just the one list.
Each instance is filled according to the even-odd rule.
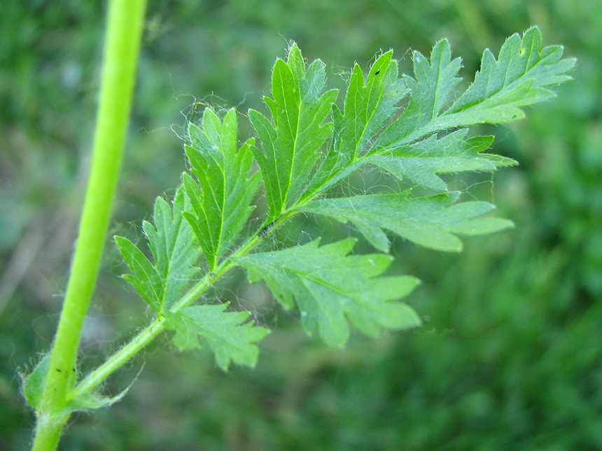
[[260,174],[248,177],[253,162],[254,141],[246,141],[237,152],[237,116],[234,109],[223,121],[206,108],[202,128],[188,126],[190,145],[186,155],[199,184],[187,173],[183,185],[193,210],[184,216],[195,231],[209,267],[216,268],[253,212],[253,196]]

